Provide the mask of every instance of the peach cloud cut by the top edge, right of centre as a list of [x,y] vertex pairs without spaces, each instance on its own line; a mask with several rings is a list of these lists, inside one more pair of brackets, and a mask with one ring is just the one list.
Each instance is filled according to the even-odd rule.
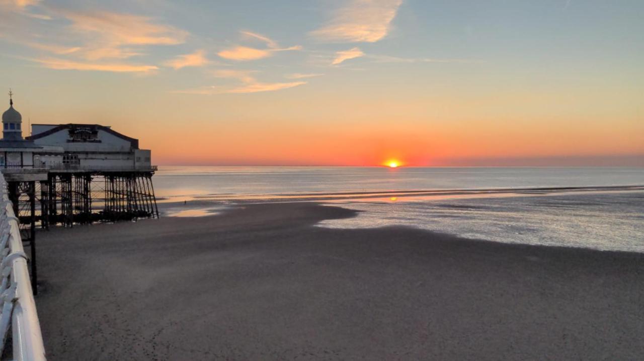
[[403,0],[351,0],[311,35],[330,42],[377,42],[389,33],[402,3]]

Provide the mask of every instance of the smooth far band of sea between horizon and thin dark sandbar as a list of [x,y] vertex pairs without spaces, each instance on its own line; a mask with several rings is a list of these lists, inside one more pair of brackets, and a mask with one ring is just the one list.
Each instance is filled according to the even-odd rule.
[[393,190],[643,185],[644,168],[160,166],[157,197],[266,197]]

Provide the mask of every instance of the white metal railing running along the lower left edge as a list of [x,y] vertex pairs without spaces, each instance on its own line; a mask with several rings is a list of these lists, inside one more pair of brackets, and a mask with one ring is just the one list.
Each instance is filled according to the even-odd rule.
[[16,361],[46,360],[43,335],[33,301],[27,256],[20,237],[18,218],[9,200],[5,177],[0,173],[0,354],[11,325],[13,358]]

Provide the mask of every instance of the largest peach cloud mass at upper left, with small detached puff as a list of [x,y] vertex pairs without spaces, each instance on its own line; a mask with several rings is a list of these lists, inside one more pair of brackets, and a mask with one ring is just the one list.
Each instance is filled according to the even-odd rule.
[[[0,0],[7,3],[7,0]],[[153,65],[128,64],[122,61],[131,57],[145,55],[149,46],[175,45],[185,42],[189,33],[173,26],[158,24],[149,17],[106,11],[77,11],[57,6],[41,4],[36,0],[12,1],[13,6],[43,10],[54,19],[64,19],[70,24],[59,26],[52,37],[64,39],[62,46],[46,42],[46,37],[36,40],[26,35],[20,44],[39,49],[55,57],[39,57],[39,62],[50,69],[75,69],[84,71],[115,71],[130,73],[153,73],[158,67]],[[59,22],[49,22],[56,26]],[[17,41],[18,42],[18,41]],[[169,66],[175,68],[196,66],[204,59],[200,53],[179,57]]]

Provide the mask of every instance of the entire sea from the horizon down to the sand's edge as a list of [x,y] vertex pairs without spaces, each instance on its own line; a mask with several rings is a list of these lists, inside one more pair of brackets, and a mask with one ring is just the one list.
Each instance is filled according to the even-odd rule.
[[644,252],[644,168],[160,166],[153,182],[166,216],[315,201],[359,211],[317,227]]

